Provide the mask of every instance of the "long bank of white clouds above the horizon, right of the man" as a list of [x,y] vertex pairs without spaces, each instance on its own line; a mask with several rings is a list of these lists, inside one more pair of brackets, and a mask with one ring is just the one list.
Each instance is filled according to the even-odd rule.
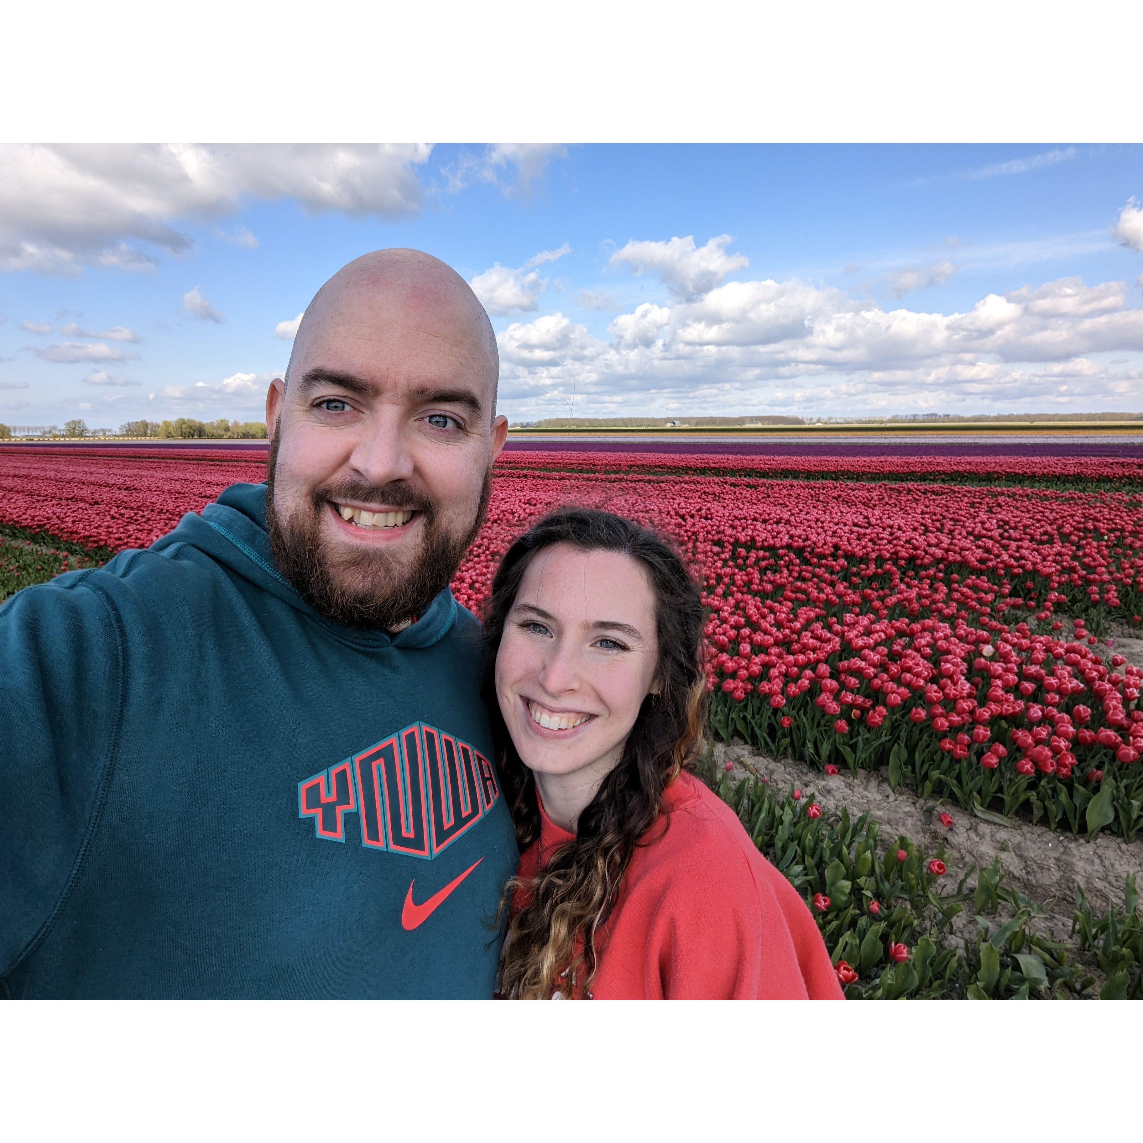
[[953,313],[881,309],[797,279],[729,281],[697,301],[642,303],[609,334],[558,313],[510,326],[498,338],[510,415],[566,414],[573,393],[591,415],[856,415],[1134,408],[1143,391],[1138,359],[1095,358],[1143,353],[1143,310],[1117,281],[1062,278]]

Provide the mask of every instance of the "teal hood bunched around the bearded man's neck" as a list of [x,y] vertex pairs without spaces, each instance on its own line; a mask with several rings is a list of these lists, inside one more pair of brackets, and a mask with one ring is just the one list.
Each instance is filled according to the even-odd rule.
[[231,485],[201,513],[187,512],[178,526],[155,541],[153,551],[186,544],[223,567],[277,596],[343,641],[361,647],[431,647],[456,623],[457,604],[446,588],[416,623],[403,631],[359,631],[334,623],[315,612],[298,594],[274,560],[266,530],[266,491],[262,485]]

